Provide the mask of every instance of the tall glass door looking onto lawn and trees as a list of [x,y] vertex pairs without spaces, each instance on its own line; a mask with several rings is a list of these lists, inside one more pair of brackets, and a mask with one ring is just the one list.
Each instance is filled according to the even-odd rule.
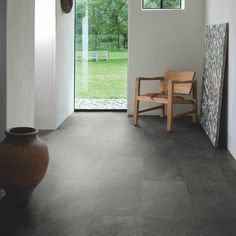
[[76,0],[75,109],[126,109],[127,31],[127,0]]

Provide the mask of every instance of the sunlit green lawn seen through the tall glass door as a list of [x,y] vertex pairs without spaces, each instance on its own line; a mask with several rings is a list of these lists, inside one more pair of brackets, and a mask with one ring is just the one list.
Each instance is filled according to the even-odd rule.
[[122,99],[126,97],[127,50],[110,51],[108,61],[82,62],[76,60],[76,99]]

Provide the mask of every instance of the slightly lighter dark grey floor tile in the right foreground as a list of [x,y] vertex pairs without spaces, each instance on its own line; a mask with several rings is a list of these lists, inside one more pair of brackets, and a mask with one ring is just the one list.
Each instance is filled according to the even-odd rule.
[[193,219],[194,212],[182,181],[144,181],[143,217],[167,220]]

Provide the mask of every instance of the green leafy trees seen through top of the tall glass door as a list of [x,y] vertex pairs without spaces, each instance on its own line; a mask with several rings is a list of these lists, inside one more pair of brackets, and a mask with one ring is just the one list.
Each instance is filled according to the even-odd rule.
[[120,37],[123,36],[123,47],[127,47],[128,35],[128,0],[79,0],[76,9],[76,33],[82,32],[82,18],[85,7],[89,7],[89,32],[95,37],[95,47],[99,35],[115,34],[116,47],[119,49]]

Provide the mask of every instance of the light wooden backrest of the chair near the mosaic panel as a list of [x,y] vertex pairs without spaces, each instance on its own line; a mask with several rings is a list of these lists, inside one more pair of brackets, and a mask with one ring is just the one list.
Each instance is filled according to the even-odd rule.
[[[164,75],[164,80],[160,84],[160,92],[168,91],[168,81],[169,80],[178,80],[186,81],[193,80],[195,72],[193,71],[176,71],[176,70],[167,70]],[[190,94],[192,90],[192,84],[175,84],[174,93],[178,94]]]

